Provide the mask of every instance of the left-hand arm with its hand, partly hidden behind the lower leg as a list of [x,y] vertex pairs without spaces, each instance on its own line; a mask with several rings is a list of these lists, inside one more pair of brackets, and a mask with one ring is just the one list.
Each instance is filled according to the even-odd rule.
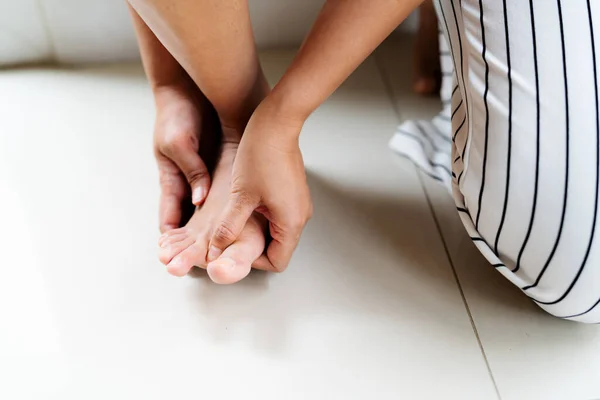
[[[137,12],[129,8],[142,61],[154,94],[156,122],[154,155],[161,197],[160,231],[178,228],[184,219],[182,204],[201,204],[210,188],[210,174],[198,152],[202,122],[210,118],[208,101],[189,75],[158,41]],[[159,61],[160,60],[160,61]]]

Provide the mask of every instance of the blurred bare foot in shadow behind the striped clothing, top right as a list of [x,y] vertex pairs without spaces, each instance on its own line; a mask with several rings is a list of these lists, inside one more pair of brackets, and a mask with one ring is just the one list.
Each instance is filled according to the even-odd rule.
[[419,9],[419,31],[414,49],[415,79],[413,90],[422,96],[435,95],[440,90],[438,22],[431,0]]

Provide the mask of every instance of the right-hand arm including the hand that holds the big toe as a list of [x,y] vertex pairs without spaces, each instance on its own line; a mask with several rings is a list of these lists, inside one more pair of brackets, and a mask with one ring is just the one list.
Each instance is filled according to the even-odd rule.
[[330,0],[296,58],[252,115],[234,162],[231,195],[210,243],[217,259],[254,210],[272,241],[255,266],[282,271],[312,214],[298,137],[304,120],[421,0]]

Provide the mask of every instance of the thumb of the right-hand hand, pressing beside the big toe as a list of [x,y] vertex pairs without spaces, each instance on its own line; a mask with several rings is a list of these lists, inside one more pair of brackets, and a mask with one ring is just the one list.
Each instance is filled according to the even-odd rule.
[[208,262],[219,258],[223,250],[235,242],[257,206],[258,202],[250,200],[244,194],[233,193],[231,195],[221,215],[221,222],[215,228],[210,240]]

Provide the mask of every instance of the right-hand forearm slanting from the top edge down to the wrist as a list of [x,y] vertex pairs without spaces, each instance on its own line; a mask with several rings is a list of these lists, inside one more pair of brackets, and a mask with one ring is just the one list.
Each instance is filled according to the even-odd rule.
[[327,1],[268,106],[307,118],[421,2]]

